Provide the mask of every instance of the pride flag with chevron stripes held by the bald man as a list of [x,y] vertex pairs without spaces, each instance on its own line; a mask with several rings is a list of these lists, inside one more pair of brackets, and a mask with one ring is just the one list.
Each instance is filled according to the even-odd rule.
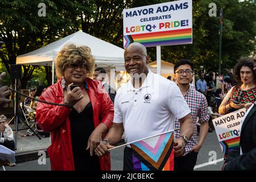
[[174,133],[166,133],[130,144],[135,171],[173,171]]

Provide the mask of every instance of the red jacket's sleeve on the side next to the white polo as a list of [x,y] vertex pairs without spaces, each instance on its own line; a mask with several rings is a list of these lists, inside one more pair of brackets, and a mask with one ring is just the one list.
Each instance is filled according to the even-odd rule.
[[101,123],[104,123],[108,129],[112,126],[114,119],[114,106],[111,101],[109,94],[104,89],[104,86],[101,88],[104,92],[101,94]]

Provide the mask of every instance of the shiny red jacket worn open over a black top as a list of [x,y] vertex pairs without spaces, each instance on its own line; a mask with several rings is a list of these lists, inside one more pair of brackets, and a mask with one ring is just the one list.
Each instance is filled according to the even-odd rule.
[[[109,94],[98,81],[87,78],[88,95],[93,107],[94,127],[104,123],[108,128],[112,126],[114,109]],[[63,104],[64,94],[61,79],[49,86],[40,99]],[[71,125],[69,113],[71,109],[63,106],[53,106],[39,102],[36,107],[36,122],[46,132],[51,132],[51,146],[47,149],[52,170],[75,170],[71,143]],[[101,170],[110,170],[110,155],[100,160]]]

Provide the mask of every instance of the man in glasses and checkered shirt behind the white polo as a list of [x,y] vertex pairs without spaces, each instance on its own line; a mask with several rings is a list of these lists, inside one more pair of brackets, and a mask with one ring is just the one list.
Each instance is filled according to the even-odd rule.
[[[194,65],[189,60],[181,59],[174,65],[175,79],[185,101],[191,109],[194,133],[192,138],[185,146],[185,153],[181,157],[174,159],[175,171],[193,171],[196,165],[197,154],[203,145],[208,133],[209,114],[207,111],[207,100],[204,94],[197,92],[195,87],[190,84],[193,79]],[[197,118],[200,123],[199,142],[197,143]],[[179,120],[175,119],[175,128],[180,129]],[[180,130],[175,131],[175,139],[180,137]]]

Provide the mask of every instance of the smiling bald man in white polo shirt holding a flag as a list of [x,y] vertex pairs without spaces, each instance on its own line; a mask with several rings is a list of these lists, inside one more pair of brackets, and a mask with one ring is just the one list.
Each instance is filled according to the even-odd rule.
[[[125,132],[125,142],[160,134],[175,127],[175,118],[181,125],[181,136],[174,143],[174,155],[182,156],[185,144],[193,134],[191,110],[179,87],[172,81],[149,71],[150,57],[140,43],[132,43],[125,49],[125,68],[131,80],[123,85],[115,96],[114,121],[108,134],[98,145],[98,156],[108,153],[110,144],[119,142]],[[133,170],[131,148],[126,146],[124,170]]]

